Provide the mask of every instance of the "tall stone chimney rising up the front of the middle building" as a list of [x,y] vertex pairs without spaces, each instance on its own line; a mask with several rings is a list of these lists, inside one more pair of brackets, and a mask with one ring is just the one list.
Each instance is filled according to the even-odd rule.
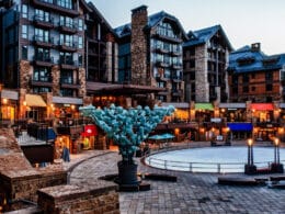
[[147,35],[145,27],[148,24],[148,12],[146,5],[132,10],[132,83],[147,85]]

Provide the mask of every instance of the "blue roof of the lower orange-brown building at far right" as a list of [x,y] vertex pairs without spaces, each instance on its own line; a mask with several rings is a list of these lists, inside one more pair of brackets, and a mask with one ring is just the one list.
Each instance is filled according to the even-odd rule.
[[285,65],[285,54],[267,56],[260,49],[243,46],[229,54],[228,70],[233,72],[252,72],[282,69]]

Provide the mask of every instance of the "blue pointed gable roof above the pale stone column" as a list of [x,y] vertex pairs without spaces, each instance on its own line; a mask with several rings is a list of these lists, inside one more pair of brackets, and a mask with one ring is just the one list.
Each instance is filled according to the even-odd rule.
[[189,41],[185,42],[183,46],[187,47],[187,46],[195,46],[195,45],[205,44],[218,31],[220,31],[221,35],[224,36],[225,41],[227,42],[229,49],[232,50],[233,48],[232,48],[230,42],[228,41],[226,33],[224,32],[223,27],[219,24],[214,25],[214,26],[209,26],[209,27],[206,27],[206,29],[202,29],[202,30],[198,30],[198,31],[190,31],[189,34],[187,34]]

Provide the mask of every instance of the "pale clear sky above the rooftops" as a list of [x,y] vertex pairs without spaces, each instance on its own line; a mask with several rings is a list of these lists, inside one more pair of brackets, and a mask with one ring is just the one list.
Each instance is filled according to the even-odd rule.
[[235,49],[261,43],[266,55],[285,53],[285,0],[91,1],[112,27],[129,23],[130,10],[145,4],[149,15],[174,15],[186,33],[220,24]]

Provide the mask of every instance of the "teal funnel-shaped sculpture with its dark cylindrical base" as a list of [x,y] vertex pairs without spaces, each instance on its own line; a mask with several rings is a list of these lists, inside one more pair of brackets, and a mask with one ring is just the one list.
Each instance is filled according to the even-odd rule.
[[[102,128],[110,139],[118,146],[122,161],[118,162],[119,183],[137,183],[136,174],[129,174],[129,171],[136,173],[136,164],[134,155],[141,142],[149,133],[163,120],[166,115],[171,115],[174,111],[172,105],[149,106],[123,109],[111,104],[110,108],[95,109],[93,105],[87,105],[79,109],[83,116],[89,116]],[[130,169],[134,167],[134,169]]]

